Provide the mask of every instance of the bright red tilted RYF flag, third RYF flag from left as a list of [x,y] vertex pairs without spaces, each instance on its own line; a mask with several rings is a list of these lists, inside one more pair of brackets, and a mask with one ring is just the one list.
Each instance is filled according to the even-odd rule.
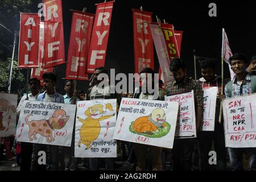
[[97,4],[87,63],[88,73],[105,65],[113,3],[114,1]]

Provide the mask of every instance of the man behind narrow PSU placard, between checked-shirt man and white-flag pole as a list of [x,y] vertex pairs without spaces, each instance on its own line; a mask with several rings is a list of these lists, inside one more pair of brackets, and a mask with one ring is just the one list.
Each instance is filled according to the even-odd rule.
[[[214,131],[199,131],[197,139],[199,142],[199,167],[201,171],[209,170],[209,152],[212,151],[212,144],[214,144],[214,151],[217,154],[217,171],[224,171],[226,168],[226,148],[225,148],[225,136],[224,136],[224,124],[223,118],[221,123],[219,120],[220,115],[220,97],[225,98],[224,95],[221,96],[221,77],[215,74],[214,63],[210,60],[203,60],[200,63],[200,70],[202,77],[199,79],[199,84],[202,89],[208,89],[213,86],[218,88],[218,97],[216,101],[216,111],[215,111],[215,122]],[[213,143],[212,143],[213,142]]]

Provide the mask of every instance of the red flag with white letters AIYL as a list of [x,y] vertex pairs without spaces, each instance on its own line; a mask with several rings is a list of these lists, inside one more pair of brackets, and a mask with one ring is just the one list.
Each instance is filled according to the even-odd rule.
[[40,17],[20,13],[18,68],[38,67]]

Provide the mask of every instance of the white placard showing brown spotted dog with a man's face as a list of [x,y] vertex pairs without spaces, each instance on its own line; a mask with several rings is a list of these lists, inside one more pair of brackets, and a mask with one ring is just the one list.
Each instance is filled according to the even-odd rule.
[[16,129],[18,142],[71,146],[76,106],[24,101]]

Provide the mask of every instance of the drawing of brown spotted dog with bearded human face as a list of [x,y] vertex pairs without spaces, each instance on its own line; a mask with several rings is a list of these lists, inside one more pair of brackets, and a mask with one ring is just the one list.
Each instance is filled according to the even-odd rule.
[[63,109],[56,110],[49,119],[28,121],[30,116],[32,115],[28,114],[25,118],[25,121],[30,128],[28,131],[28,138],[30,141],[38,139],[36,138],[36,134],[46,137],[47,142],[54,141],[55,138],[52,136],[52,131],[55,129],[63,129],[69,119],[69,115],[67,115]]

